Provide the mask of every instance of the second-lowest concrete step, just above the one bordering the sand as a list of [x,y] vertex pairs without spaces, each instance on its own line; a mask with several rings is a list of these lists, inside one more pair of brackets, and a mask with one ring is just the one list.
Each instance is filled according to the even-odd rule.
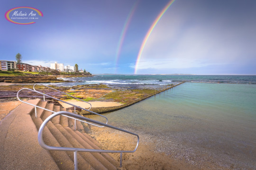
[[[56,125],[56,127],[61,131],[61,133],[65,136],[65,138],[73,145],[75,148],[84,148],[82,144],[80,144],[66,129],[70,129],[69,127],[62,127]],[[71,130],[71,129],[70,129]],[[71,130],[72,131],[72,130]],[[90,165],[96,170],[107,170],[100,161],[98,161],[91,153],[88,152],[79,152],[83,158],[90,163]]]

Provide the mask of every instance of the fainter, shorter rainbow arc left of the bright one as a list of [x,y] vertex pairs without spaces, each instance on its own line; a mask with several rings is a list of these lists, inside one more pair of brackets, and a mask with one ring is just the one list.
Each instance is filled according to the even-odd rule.
[[116,67],[118,65],[122,44],[124,42],[124,38],[125,38],[126,32],[128,30],[128,26],[130,24],[131,18],[132,18],[133,14],[134,14],[135,9],[137,8],[137,4],[138,4],[138,1],[135,2],[133,7],[131,8],[131,10],[130,10],[127,18],[126,18],[123,30],[121,32],[121,36],[120,36],[119,42],[118,42],[118,48],[117,48],[117,51],[116,51]]

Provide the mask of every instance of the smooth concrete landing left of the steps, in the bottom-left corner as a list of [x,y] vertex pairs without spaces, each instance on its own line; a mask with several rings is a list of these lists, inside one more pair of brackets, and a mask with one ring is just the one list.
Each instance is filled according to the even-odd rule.
[[[40,100],[29,100],[37,105]],[[0,170],[58,170],[51,155],[37,142],[30,114],[34,107],[20,104],[0,121]]]

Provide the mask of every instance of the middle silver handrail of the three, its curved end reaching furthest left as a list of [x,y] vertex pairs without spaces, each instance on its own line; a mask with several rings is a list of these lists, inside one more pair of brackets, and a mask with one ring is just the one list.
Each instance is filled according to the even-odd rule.
[[[54,100],[57,100],[57,101],[60,101],[60,102],[64,102],[64,101],[62,101],[62,100],[60,100],[60,99],[57,99],[57,98],[55,98],[55,97],[49,96],[49,95],[47,95],[47,94],[38,92],[38,91],[36,91],[36,90],[29,89],[29,88],[23,88],[23,89],[20,89],[20,90],[18,91],[18,93],[17,93],[17,99],[18,99],[20,102],[24,102],[24,101],[22,101],[22,100],[18,97],[19,92],[22,91],[22,90],[29,90],[29,91],[32,91],[32,92],[35,92],[35,93],[39,93],[39,94],[45,95],[45,96],[47,96],[47,97],[49,97],[49,98],[52,98],[52,99],[54,99]],[[31,103],[29,103],[29,102],[24,102],[24,103],[29,104],[29,105],[35,107],[35,116],[36,116],[36,118],[37,118],[37,108],[40,108],[40,109],[43,109],[43,110],[47,110],[47,111],[51,111],[51,112],[53,112],[53,113],[56,113],[56,112],[53,111],[53,110],[48,110],[48,109],[46,109],[46,108],[42,108],[42,107],[37,106],[37,105],[35,105],[35,104],[31,104]],[[107,118],[106,116],[103,116],[103,115],[101,115],[101,114],[99,114],[99,113],[95,113],[95,112],[93,112],[93,111],[91,111],[91,110],[87,110],[87,109],[84,109],[84,108],[82,108],[82,107],[76,106],[76,105],[74,105],[74,104],[72,104],[72,103],[69,103],[69,102],[64,102],[64,103],[70,104],[70,105],[72,105],[72,106],[74,106],[74,107],[80,108],[80,109],[82,109],[82,110],[89,111],[89,112],[91,112],[91,113],[93,113],[93,114],[96,114],[96,115],[99,115],[99,116],[101,116],[101,117],[103,117],[103,118],[106,119],[106,124],[108,123],[108,118]],[[66,116],[66,115],[63,115],[63,116],[68,117],[68,116]],[[72,118],[72,117],[68,117],[68,118],[74,119],[74,118]],[[80,119],[75,119],[75,120],[82,121],[82,120],[80,120]],[[97,127],[104,127],[104,126],[95,125],[95,124],[93,124],[93,123],[89,123],[89,122],[86,122],[86,121],[82,121],[82,122],[87,123],[87,124],[90,124],[90,125],[94,125],[94,126],[97,126]],[[75,124],[76,124],[76,121],[75,121]],[[75,127],[76,127],[76,126],[75,126]]]

